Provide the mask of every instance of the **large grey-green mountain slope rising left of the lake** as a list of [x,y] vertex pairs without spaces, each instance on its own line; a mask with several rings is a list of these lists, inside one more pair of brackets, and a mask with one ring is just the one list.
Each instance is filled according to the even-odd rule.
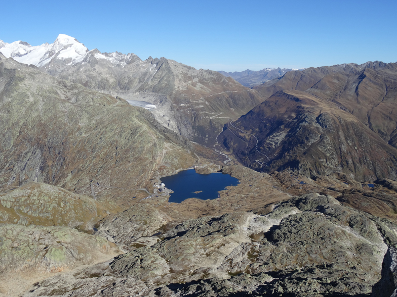
[[130,197],[155,174],[194,163],[188,143],[148,111],[0,59],[2,187],[38,181]]

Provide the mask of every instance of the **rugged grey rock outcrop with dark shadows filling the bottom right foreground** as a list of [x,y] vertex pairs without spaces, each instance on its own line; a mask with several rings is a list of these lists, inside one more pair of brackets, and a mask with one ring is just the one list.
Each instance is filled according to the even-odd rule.
[[271,208],[166,224],[128,253],[24,296],[367,295],[374,285],[384,295],[376,283],[391,275],[393,224],[315,193]]

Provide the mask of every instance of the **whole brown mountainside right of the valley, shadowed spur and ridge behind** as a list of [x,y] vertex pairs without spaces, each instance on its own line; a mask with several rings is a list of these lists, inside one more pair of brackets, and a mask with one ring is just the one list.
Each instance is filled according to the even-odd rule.
[[217,140],[256,170],[395,179],[396,89],[393,63],[291,71],[258,86],[267,99]]

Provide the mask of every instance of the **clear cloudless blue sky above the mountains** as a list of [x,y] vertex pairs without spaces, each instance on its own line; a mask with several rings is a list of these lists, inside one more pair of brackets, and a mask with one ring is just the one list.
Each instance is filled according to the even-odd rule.
[[25,1],[0,6],[0,39],[166,57],[224,71],[397,62],[397,1]]

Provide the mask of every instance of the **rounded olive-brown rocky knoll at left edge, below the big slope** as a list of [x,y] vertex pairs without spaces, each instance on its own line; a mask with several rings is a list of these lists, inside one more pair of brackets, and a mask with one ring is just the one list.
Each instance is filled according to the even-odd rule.
[[29,182],[0,194],[0,223],[41,226],[82,226],[95,224],[118,208],[106,201],[78,195],[63,188]]

